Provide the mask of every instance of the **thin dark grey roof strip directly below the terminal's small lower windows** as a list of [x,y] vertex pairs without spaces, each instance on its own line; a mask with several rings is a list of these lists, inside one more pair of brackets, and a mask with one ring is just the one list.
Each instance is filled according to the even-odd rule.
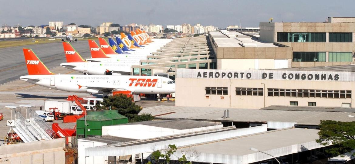
[[355,113],[355,108],[340,108],[340,107],[317,107],[317,106],[279,106],[271,105],[265,108],[267,110],[292,110],[292,111],[333,111],[333,112],[350,112]]

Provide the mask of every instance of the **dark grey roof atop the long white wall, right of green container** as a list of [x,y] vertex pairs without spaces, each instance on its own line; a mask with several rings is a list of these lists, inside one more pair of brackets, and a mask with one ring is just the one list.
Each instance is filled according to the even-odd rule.
[[215,126],[215,125],[220,125],[220,123],[203,122],[203,121],[195,121],[195,120],[155,120],[155,121],[133,122],[133,123],[122,124],[122,125],[148,125],[148,126],[183,130],[183,129]]

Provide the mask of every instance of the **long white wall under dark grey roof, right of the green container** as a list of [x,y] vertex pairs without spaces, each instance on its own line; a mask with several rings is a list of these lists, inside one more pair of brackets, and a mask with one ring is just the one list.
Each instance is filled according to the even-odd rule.
[[207,126],[207,127],[183,129],[183,130],[155,127],[155,126],[148,126],[148,125],[115,125],[115,126],[103,126],[102,135],[110,135],[116,137],[134,138],[138,140],[143,140],[147,138],[176,135],[176,134],[187,133],[187,132],[196,132],[196,131],[214,129],[219,127],[223,127],[223,125],[220,124],[215,126]]

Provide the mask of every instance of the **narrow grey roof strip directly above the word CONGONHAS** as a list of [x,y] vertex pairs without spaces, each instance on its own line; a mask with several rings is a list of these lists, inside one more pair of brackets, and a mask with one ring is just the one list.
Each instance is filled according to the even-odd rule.
[[355,72],[355,65],[320,66],[320,67],[297,67],[272,70],[287,71],[333,71],[333,72]]

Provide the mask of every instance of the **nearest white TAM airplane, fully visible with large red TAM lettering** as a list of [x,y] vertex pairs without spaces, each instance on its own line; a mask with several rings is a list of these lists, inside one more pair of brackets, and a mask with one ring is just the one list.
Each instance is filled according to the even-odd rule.
[[119,91],[132,94],[163,94],[175,92],[175,82],[160,76],[108,76],[54,74],[40,61],[32,49],[23,49],[28,75],[20,80],[66,92],[97,93],[108,97]]

